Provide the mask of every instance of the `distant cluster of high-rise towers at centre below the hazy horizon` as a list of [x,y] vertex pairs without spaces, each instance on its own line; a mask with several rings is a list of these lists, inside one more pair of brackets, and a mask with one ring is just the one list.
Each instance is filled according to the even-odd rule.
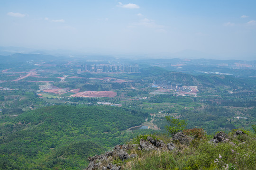
[[138,66],[130,66],[130,65],[102,65],[98,66],[96,64],[84,64],[81,65],[81,71],[102,71],[102,72],[131,72],[131,73],[138,73],[139,67]]

